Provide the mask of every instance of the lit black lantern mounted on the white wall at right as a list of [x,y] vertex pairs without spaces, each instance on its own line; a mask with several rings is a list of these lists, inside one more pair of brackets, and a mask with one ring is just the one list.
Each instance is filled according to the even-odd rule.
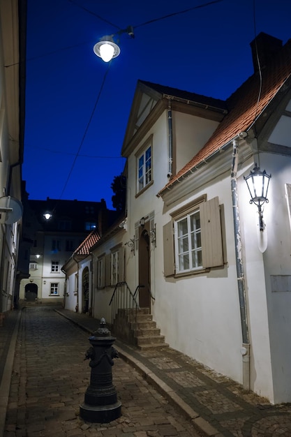
[[264,205],[264,202],[269,202],[267,199],[267,193],[270,179],[271,174],[267,175],[266,170],[262,172],[260,167],[257,166],[257,163],[255,163],[253,171],[251,170],[250,174],[247,177],[244,177],[246,185],[248,186],[248,191],[251,194],[250,203],[254,203],[258,207],[260,230],[264,230],[262,205]]

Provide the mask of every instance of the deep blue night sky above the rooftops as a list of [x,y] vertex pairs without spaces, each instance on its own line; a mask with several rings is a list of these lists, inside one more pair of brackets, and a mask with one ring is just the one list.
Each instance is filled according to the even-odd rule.
[[[105,198],[112,208],[138,79],[225,99],[253,73],[256,34],[291,38],[289,0],[222,0],[178,14],[205,3],[28,0],[22,177],[29,199]],[[120,36],[119,57],[110,64],[96,57],[102,36],[129,25],[135,38]]]

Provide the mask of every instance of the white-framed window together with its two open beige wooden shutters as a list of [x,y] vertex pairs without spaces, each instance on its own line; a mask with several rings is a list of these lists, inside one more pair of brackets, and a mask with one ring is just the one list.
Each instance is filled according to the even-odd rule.
[[164,274],[191,274],[223,266],[221,211],[218,197],[181,207],[163,226]]

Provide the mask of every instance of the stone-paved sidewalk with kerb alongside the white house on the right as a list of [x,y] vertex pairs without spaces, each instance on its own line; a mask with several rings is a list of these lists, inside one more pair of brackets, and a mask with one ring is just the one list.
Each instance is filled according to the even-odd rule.
[[[60,313],[87,332],[98,329],[98,320],[87,315]],[[121,357],[207,436],[291,436],[290,404],[273,406],[171,348],[142,352],[118,340],[116,346]]]

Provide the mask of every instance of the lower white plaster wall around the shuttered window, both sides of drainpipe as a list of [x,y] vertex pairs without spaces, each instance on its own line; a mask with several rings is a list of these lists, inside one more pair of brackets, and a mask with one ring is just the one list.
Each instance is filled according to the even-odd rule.
[[[247,187],[242,178],[239,179],[238,185],[239,191],[245,198]],[[156,274],[159,276],[156,279],[154,318],[158,320],[170,346],[242,383],[241,317],[234,253],[230,172],[215,179],[211,186],[189,195],[179,204],[179,207],[204,194],[207,195],[207,199],[218,195],[219,204],[223,205],[227,264],[222,268],[211,269],[209,273],[165,279],[162,274],[163,242],[160,238],[156,249]],[[241,205],[244,207],[243,202]],[[170,213],[173,211],[174,207],[169,209],[169,215],[165,214],[163,218],[165,223],[170,219]],[[241,225],[244,226],[244,223]],[[249,255],[245,250],[251,254],[245,272],[247,304],[251,302],[251,311],[248,313],[251,339],[251,388],[272,399],[264,265],[262,253],[258,250],[258,246],[254,247],[255,232],[255,228],[248,232],[248,247],[243,242],[244,258],[248,259]],[[250,246],[250,241],[255,241],[255,244]],[[257,308],[260,308],[260,311],[256,311]]]

